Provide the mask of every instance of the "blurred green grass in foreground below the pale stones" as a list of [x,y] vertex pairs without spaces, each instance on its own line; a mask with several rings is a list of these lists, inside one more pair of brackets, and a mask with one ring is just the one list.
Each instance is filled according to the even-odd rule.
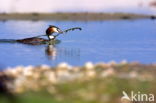
[[[156,94],[155,81],[120,79],[117,77],[96,78],[86,81],[71,81],[0,98],[0,103],[120,103],[122,91]],[[11,100],[11,101],[9,101]]]

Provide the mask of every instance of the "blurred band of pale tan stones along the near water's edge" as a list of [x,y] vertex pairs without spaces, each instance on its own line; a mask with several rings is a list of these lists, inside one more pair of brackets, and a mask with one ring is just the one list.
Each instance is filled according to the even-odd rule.
[[[97,63],[87,62],[83,66],[71,66],[61,63],[55,67],[48,65],[41,66],[17,66],[0,71],[0,83],[7,87],[8,91],[21,93],[27,91],[30,87],[26,84],[32,84],[36,81],[38,88],[43,88],[42,82],[46,84],[70,83],[71,81],[86,81],[93,78],[116,77],[120,79],[136,79],[151,81],[156,78],[156,64],[140,64],[137,62],[127,63]],[[2,79],[3,78],[3,79]],[[21,80],[25,78],[25,81]],[[44,78],[41,80],[40,78]],[[18,81],[18,84],[16,84]],[[25,84],[26,83],[26,84]],[[9,84],[9,85],[8,85]],[[11,85],[11,88],[10,88]],[[14,89],[13,89],[14,88]],[[1,89],[1,88],[0,88]],[[35,90],[35,88],[31,88]]]

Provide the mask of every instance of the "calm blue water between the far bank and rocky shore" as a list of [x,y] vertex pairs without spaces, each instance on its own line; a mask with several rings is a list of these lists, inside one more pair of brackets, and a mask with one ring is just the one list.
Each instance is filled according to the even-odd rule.
[[5,21],[0,22],[0,39],[20,39],[44,34],[48,25],[60,28],[82,27],[61,35],[61,43],[26,45],[0,43],[2,67],[17,65],[55,66],[60,62],[71,65],[122,60],[141,63],[156,62],[156,21]]

